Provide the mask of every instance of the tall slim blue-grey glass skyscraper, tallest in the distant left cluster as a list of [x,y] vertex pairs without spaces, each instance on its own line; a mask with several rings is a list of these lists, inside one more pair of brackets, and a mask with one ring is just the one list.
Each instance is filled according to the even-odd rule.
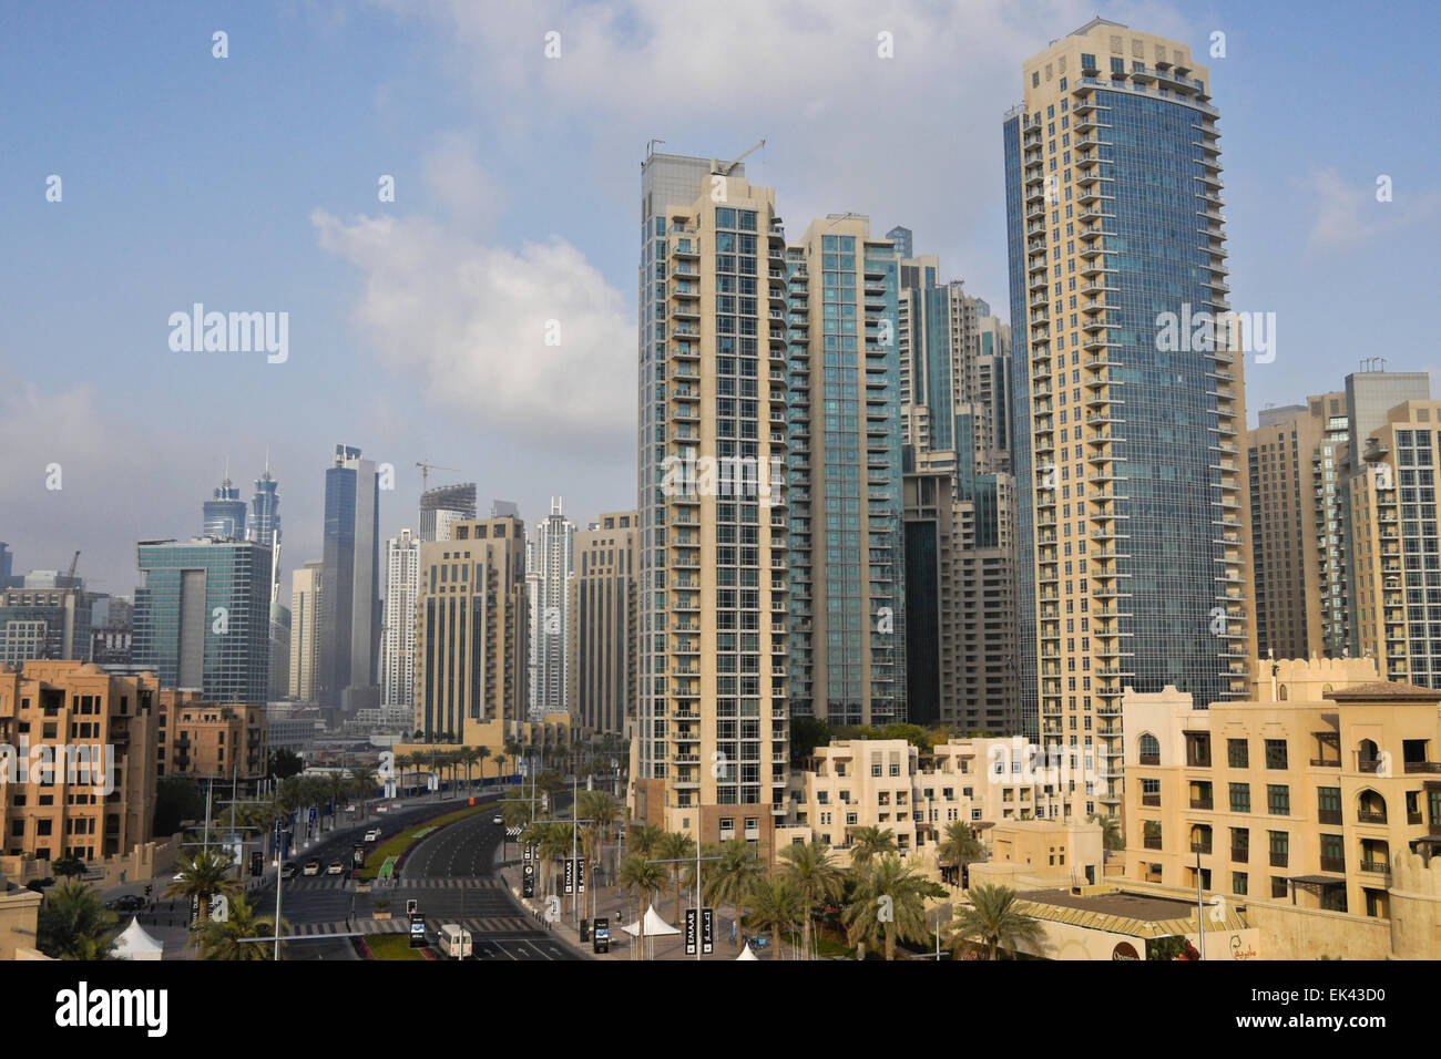
[[375,463],[336,445],[326,471],[324,558],[320,569],[321,706],[350,709],[376,683],[380,648],[380,509]]

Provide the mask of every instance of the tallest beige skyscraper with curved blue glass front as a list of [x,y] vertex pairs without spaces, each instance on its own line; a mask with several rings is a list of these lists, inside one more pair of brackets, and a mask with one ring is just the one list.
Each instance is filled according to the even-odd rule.
[[1255,644],[1238,336],[1190,340],[1229,311],[1219,112],[1189,49],[1105,19],[1023,75],[1003,130],[1022,705],[1114,813],[1123,687],[1239,696]]

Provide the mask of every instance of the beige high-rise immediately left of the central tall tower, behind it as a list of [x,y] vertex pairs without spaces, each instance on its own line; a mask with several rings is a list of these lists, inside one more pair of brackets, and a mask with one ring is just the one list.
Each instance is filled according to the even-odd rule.
[[574,549],[566,699],[582,728],[621,735],[635,709],[635,513],[602,514]]

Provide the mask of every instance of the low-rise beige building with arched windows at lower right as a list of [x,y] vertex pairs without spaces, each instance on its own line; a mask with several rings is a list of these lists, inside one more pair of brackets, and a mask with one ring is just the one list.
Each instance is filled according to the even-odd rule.
[[1127,875],[1409,921],[1402,948],[1441,955],[1441,692],[1379,682],[1370,658],[1259,673],[1209,709],[1176,689],[1123,700]]

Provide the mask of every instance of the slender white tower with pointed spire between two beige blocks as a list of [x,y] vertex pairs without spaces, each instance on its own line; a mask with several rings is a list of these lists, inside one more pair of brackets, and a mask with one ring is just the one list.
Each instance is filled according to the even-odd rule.
[[575,548],[575,524],[561,510],[561,501],[550,500],[550,514],[536,523],[535,536],[526,548],[526,594],[530,602],[530,718],[566,709],[566,671],[569,644],[566,641],[566,586]]

